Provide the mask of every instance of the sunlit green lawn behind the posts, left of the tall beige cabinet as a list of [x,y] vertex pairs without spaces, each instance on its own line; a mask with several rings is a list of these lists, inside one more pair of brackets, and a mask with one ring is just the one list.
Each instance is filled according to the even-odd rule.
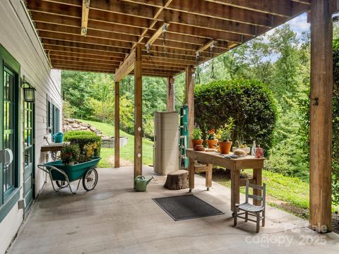
[[[114,126],[109,123],[100,123],[96,121],[87,121],[81,120],[83,123],[89,123],[94,126],[98,130],[102,132],[103,135],[114,136]],[[122,159],[126,159],[130,162],[134,160],[134,136],[125,133],[124,131],[120,131],[120,136],[127,137],[129,140],[127,145],[124,147],[120,147],[120,156]],[[102,160],[99,164],[99,167],[113,167],[112,162],[109,162],[109,157],[114,155],[113,148],[102,148],[101,157]],[[143,138],[143,164],[149,165],[153,164],[153,141],[148,138]]]

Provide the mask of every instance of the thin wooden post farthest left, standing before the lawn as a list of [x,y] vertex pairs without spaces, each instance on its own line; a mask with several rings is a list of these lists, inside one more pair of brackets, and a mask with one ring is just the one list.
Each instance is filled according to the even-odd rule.
[[120,167],[120,96],[119,96],[119,82],[115,83],[114,87],[115,102],[114,102],[114,168]]

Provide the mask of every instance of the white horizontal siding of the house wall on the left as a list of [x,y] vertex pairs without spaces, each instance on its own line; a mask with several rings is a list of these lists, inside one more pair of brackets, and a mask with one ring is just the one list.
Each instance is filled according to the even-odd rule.
[[[47,135],[47,95],[61,110],[61,73],[49,68],[20,0],[0,1],[0,44],[20,63],[21,78],[25,75],[26,80],[36,88],[35,165],[37,165],[45,160],[45,153],[40,152],[40,147],[44,144],[44,135]],[[21,105],[23,110],[23,104]],[[60,111],[60,116],[61,114]],[[20,186],[23,186],[23,119],[20,124]],[[36,168],[35,195],[39,193],[43,184],[44,174]],[[20,199],[22,198],[23,188],[20,193]],[[23,210],[18,210],[18,205],[14,205],[0,223],[0,253],[5,252],[22,221]]]

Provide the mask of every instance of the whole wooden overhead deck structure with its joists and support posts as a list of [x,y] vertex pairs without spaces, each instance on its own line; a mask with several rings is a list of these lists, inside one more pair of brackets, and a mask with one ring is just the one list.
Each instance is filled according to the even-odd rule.
[[119,167],[119,81],[133,73],[134,175],[142,174],[142,76],[186,72],[189,130],[194,68],[309,12],[311,21],[310,226],[331,230],[332,14],[336,0],[26,0],[52,68],[115,74],[115,166]]

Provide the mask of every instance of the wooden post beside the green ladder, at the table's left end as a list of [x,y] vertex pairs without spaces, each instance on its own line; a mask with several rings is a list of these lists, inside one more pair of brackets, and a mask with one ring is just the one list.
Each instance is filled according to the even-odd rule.
[[193,148],[191,133],[194,128],[194,66],[186,68],[186,104],[189,105],[189,147]]

